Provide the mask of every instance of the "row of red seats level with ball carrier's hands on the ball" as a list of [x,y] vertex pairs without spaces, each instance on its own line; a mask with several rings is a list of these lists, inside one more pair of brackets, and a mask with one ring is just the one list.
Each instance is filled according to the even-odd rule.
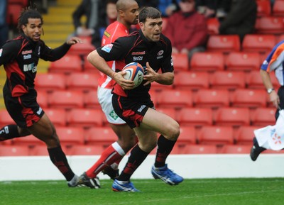
[[[200,69],[202,70],[202,69]],[[69,75],[59,73],[38,74],[35,78],[35,88],[38,91],[53,92],[59,90],[90,92],[97,90],[97,73],[73,72]],[[275,88],[278,80],[271,74],[271,80]],[[264,89],[258,70],[251,72],[217,70],[207,71],[180,71],[175,73],[173,85],[165,86],[153,83],[152,88],[160,89]]]

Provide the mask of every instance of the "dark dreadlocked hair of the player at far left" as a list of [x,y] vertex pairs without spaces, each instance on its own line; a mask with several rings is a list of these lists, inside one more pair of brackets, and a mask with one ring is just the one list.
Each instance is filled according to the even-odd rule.
[[22,26],[28,24],[28,18],[40,18],[41,23],[43,24],[43,16],[37,11],[36,5],[28,6],[21,11],[20,16],[18,17],[18,32],[23,33]]

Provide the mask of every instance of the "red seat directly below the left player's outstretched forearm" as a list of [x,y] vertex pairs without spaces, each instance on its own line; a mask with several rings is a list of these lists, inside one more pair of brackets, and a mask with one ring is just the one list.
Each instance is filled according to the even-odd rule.
[[60,72],[64,74],[70,74],[72,72],[82,72],[82,60],[79,55],[67,54],[50,63],[48,72]]

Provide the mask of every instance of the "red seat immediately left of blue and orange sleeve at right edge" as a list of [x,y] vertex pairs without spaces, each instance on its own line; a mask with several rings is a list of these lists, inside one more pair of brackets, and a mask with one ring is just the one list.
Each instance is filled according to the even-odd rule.
[[234,71],[259,70],[261,55],[258,52],[230,52],[226,57],[226,69]]

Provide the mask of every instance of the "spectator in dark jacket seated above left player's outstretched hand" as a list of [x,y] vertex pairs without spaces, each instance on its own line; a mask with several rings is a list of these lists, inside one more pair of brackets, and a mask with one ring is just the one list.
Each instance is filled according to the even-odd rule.
[[[75,36],[88,36],[94,34],[94,29],[98,23],[99,0],[82,0],[81,4],[72,13],[73,24],[75,26]],[[86,23],[83,25],[81,18],[86,16]]]

